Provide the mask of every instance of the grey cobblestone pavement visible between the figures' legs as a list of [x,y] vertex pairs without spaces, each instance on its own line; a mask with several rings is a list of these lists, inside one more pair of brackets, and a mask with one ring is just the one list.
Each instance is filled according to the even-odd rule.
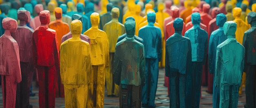
[[[155,98],[155,103],[157,108],[169,108],[169,98],[167,97],[167,88],[163,86],[164,84],[164,68],[159,69],[159,78],[157,85],[157,93]],[[35,84],[33,84],[34,86]],[[200,108],[212,108],[212,95],[205,92],[207,87],[202,87],[202,99],[200,100]],[[33,105],[33,108],[39,108],[38,104],[38,88],[33,88],[33,93],[36,93],[36,96],[30,97],[30,104]],[[118,97],[107,97],[105,88],[105,101],[104,108],[119,108],[119,99]],[[238,108],[243,108],[245,104],[245,89],[243,88],[243,94],[239,95]],[[2,88],[0,88],[0,108],[3,108],[2,105]],[[56,98],[56,108],[65,108],[64,98]]]

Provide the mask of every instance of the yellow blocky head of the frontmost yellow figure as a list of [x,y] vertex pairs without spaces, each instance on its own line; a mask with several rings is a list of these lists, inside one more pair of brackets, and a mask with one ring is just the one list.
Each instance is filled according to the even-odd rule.
[[72,20],[70,23],[70,29],[72,34],[80,35],[83,29],[83,24],[80,20]]

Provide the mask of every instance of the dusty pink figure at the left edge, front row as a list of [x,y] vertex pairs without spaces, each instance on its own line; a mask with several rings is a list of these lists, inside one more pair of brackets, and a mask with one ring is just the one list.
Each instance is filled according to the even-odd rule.
[[17,21],[4,18],[4,34],[0,37],[0,75],[3,108],[15,108],[17,83],[21,82],[19,46],[11,33],[16,32]]

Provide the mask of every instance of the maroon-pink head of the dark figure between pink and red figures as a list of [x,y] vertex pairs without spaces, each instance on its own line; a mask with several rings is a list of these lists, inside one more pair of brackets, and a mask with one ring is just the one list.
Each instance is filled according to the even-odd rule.
[[29,23],[30,21],[30,12],[27,10],[18,10],[18,20],[25,21],[25,23]]

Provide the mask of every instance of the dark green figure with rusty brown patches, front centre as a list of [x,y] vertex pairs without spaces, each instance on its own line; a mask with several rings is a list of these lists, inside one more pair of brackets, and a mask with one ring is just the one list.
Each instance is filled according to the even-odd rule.
[[127,20],[124,25],[126,37],[115,47],[114,62],[115,84],[120,88],[119,107],[141,108],[141,87],[146,80],[144,45],[134,39],[135,21]]

